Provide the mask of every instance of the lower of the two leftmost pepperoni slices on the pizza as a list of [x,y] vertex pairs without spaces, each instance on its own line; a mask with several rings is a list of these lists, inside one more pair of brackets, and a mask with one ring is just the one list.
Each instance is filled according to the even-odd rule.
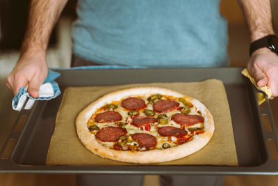
[[126,134],[126,129],[120,127],[105,127],[99,130],[95,135],[97,139],[104,142],[117,141],[120,137]]

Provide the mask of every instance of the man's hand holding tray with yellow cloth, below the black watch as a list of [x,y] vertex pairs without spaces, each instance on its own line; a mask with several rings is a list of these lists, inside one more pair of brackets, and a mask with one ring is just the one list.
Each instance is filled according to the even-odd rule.
[[272,98],[278,96],[278,56],[270,49],[257,49],[247,63],[250,75],[254,77],[257,86],[269,86]]

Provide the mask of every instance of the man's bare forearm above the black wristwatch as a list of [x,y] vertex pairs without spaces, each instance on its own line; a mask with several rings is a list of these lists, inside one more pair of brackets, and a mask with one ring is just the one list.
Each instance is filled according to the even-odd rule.
[[270,0],[238,0],[250,31],[251,42],[274,34]]

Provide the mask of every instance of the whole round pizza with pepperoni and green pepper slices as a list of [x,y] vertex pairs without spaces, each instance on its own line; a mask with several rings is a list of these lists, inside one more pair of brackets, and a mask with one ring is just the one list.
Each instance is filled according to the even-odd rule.
[[199,100],[159,87],[108,93],[76,118],[76,132],[92,153],[139,164],[177,160],[213,136],[210,111]]

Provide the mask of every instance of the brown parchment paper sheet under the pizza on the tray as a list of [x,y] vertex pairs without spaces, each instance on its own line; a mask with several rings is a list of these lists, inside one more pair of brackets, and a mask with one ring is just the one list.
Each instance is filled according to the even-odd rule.
[[215,132],[211,141],[193,155],[180,160],[154,165],[213,164],[237,166],[238,159],[234,143],[229,104],[224,85],[220,80],[204,82],[174,82],[152,84],[127,84],[121,86],[68,87],[56,118],[56,127],[51,137],[47,154],[47,165],[134,165],[132,163],[108,160],[91,153],[81,144],[76,134],[75,120],[79,112],[90,102],[112,91],[135,86],[158,86],[170,88],[189,95],[211,111]]

